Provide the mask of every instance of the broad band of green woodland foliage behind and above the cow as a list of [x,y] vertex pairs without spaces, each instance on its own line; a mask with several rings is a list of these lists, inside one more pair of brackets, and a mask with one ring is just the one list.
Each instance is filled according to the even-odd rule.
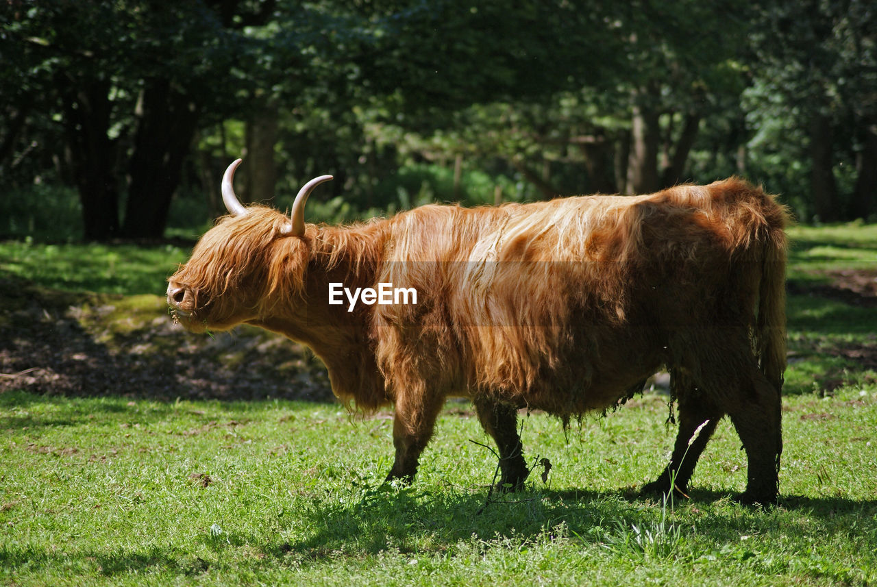
[[[4,5],[0,34],[0,172],[13,187],[39,178],[77,184],[82,197],[107,185],[118,186],[113,198],[124,199],[126,186],[169,197],[175,185],[159,180],[175,173],[132,172],[185,159],[179,145],[189,135],[171,135],[195,124],[197,156],[182,191],[203,191],[206,178],[217,180],[245,153],[245,129],[270,103],[280,113],[280,200],[314,175],[338,180],[324,198],[338,203],[317,203],[317,218],[398,209],[430,190],[444,200],[436,180],[424,190],[423,182],[403,192],[394,184],[407,181],[397,177],[407,167],[451,168],[460,155],[464,175],[488,174],[485,183],[502,184],[510,199],[624,191],[636,106],[658,117],[649,157],[659,174],[668,170],[662,183],[743,174],[783,194],[804,219],[816,214],[808,124],[825,116],[836,216],[873,214],[863,196],[873,189],[859,180],[873,159],[868,145],[877,145],[874,11],[866,3],[23,6]],[[173,99],[155,98],[163,84]],[[180,104],[185,124],[169,123]],[[162,124],[164,138],[152,132]],[[91,143],[73,138],[86,131],[106,139],[89,165],[77,163],[75,145]],[[78,180],[83,165],[100,166],[100,177]],[[538,180],[545,186],[534,187]],[[489,202],[492,188],[452,198]],[[202,217],[187,226],[211,220],[192,213]]]

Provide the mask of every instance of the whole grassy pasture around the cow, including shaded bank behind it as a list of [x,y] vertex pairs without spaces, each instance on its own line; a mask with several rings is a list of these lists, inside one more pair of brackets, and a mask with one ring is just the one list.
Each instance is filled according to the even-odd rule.
[[731,500],[745,455],[728,421],[690,499],[638,496],[674,441],[660,385],[566,431],[524,418],[534,470],[505,495],[470,405],[450,402],[415,484],[383,485],[389,412],[346,414],[274,336],[170,324],[163,280],[188,251],[0,244],[0,580],[877,583],[877,226],[791,233],[768,510]]

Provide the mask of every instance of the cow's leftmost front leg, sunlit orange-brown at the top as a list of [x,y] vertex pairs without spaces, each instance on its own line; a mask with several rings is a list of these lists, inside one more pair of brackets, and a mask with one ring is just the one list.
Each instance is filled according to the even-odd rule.
[[[410,394],[413,395],[413,394]],[[420,453],[430,442],[436,417],[442,406],[441,398],[426,398],[412,401],[406,396],[396,400],[396,414],[393,417],[393,446],[396,447],[396,460],[389,470],[387,481],[410,484],[417,474]]]

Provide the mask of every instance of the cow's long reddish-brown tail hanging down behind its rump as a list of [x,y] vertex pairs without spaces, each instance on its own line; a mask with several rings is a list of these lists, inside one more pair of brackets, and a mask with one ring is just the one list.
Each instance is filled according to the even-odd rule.
[[759,368],[780,393],[786,371],[786,209],[768,199],[768,223],[759,280],[756,349]]

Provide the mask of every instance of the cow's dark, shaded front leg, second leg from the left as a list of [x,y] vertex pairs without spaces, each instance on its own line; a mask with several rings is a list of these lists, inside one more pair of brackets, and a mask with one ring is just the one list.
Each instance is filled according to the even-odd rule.
[[499,488],[517,491],[524,486],[530,471],[524,462],[524,447],[517,433],[517,410],[508,404],[492,400],[474,400],[481,426],[496,441],[499,449],[499,468],[502,473]]

